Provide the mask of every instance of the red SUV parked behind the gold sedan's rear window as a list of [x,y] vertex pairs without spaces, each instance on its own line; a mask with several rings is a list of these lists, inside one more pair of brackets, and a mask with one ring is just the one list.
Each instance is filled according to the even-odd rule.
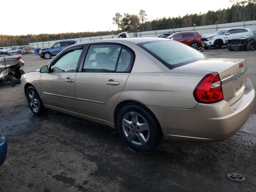
[[198,32],[176,32],[166,37],[168,39],[173,39],[179,42],[182,42],[188,46],[191,46],[194,49],[204,50],[204,44],[202,42],[202,36]]

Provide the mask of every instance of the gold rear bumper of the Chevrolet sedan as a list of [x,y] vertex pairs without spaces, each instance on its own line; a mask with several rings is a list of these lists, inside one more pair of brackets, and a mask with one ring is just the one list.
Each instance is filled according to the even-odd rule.
[[233,105],[225,100],[198,104],[194,109],[148,106],[158,119],[165,139],[222,141],[234,135],[253,110],[255,90],[248,79],[244,95]]

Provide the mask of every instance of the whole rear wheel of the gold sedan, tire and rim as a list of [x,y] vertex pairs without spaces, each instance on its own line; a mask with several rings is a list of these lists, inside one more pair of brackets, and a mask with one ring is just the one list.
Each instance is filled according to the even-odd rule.
[[[123,118],[126,119],[127,116],[129,117],[129,114],[131,114],[130,118],[132,118],[132,114],[137,114],[136,119],[138,120],[138,123],[135,125],[133,123],[134,121],[130,119],[132,120],[130,121],[131,124],[128,124],[130,125],[130,128],[128,126],[123,126],[122,123]],[[142,127],[138,126],[138,124],[143,124],[143,121],[146,121],[148,130],[144,129],[143,131]],[[160,144],[160,141],[162,139],[162,132],[160,131],[160,128],[158,127],[158,124],[154,120],[153,116],[150,114],[150,112],[148,112],[148,110],[146,110],[143,106],[139,106],[138,104],[130,103],[120,110],[117,117],[117,126],[120,136],[124,140],[126,145],[136,152],[149,152],[156,148]],[[134,136],[134,139],[131,141],[128,140],[128,135],[130,134]],[[143,137],[140,136],[141,134],[143,134]],[[144,138],[144,143],[141,142],[139,137],[140,139]]]

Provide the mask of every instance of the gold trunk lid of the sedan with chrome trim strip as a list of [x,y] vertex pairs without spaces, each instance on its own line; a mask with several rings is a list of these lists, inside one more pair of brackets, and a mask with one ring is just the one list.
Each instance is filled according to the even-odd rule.
[[172,70],[218,72],[224,100],[230,106],[242,97],[247,82],[246,59],[242,58],[206,58]]

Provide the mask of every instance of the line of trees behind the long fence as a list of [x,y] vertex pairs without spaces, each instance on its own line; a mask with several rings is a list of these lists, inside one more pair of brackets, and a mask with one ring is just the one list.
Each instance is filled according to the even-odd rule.
[[128,13],[124,13],[124,15],[122,15],[120,13],[116,13],[112,20],[113,24],[117,26],[118,30],[111,32],[69,32],[38,35],[27,34],[17,36],[0,35],[0,46],[18,46],[27,45],[30,42],[103,36],[116,34],[121,31],[139,32],[256,20],[256,0],[230,0],[230,2],[233,2],[233,5],[227,9],[219,9],[217,11],[209,10],[207,13],[203,14],[186,14],[183,17],[163,17],[154,20],[149,20],[145,10],[140,10],[138,15]]

